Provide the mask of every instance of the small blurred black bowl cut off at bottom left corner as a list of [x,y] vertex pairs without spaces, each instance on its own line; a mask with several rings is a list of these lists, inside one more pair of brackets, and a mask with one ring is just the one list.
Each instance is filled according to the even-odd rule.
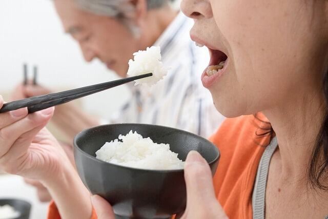
[[11,219],[29,219],[31,211],[31,204],[29,202],[14,198],[0,199],[0,206],[4,205],[10,205],[19,212],[18,217],[13,217]]

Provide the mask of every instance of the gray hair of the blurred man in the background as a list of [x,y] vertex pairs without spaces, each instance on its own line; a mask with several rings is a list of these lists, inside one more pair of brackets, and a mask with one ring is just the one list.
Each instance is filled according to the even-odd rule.
[[[161,8],[172,1],[174,0],[147,0],[147,9]],[[134,36],[140,35],[140,29],[132,24],[129,18],[124,16],[124,14],[135,10],[135,7],[130,3],[131,0],[76,0],[76,2],[81,10],[118,18]]]

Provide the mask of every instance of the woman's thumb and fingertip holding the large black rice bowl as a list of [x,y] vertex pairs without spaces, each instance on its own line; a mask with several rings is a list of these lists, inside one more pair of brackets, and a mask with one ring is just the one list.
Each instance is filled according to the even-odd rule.
[[[213,187],[212,173],[206,160],[196,151],[191,151],[185,163],[187,207],[175,218],[228,218],[218,203]],[[99,219],[114,219],[111,205],[98,195],[91,198]]]

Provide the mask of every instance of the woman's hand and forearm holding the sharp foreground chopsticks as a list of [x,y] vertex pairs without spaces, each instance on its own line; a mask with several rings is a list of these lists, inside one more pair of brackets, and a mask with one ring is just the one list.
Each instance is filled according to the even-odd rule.
[[[3,106],[0,96],[0,108]],[[26,108],[0,113],[0,169],[39,180],[61,218],[90,218],[90,193],[63,148],[44,128],[54,108],[28,114]]]

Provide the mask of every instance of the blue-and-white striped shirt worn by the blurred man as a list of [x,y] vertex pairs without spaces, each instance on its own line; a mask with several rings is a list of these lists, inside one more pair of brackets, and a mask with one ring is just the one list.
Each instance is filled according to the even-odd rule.
[[132,95],[111,123],[145,123],[175,127],[209,137],[224,117],[213,105],[200,75],[209,62],[207,48],[191,41],[192,19],[181,12],[157,39],[166,77],[152,87],[128,84]]

